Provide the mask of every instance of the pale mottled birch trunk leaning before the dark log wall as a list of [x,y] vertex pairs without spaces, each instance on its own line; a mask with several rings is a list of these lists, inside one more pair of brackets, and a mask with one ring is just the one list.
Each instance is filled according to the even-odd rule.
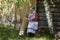
[[46,18],[49,26],[50,33],[53,33],[53,23],[52,23],[52,15],[49,11],[49,5],[47,1],[44,1],[45,11],[46,11]]

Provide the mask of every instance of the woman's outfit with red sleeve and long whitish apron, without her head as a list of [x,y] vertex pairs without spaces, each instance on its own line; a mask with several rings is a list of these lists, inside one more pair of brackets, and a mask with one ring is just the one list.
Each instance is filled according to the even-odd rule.
[[[31,17],[30,17],[31,16]],[[38,29],[38,14],[33,13],[29,14],[28,18],[31,18],[31,21],[28,22],[27,33],[34,33]]]

